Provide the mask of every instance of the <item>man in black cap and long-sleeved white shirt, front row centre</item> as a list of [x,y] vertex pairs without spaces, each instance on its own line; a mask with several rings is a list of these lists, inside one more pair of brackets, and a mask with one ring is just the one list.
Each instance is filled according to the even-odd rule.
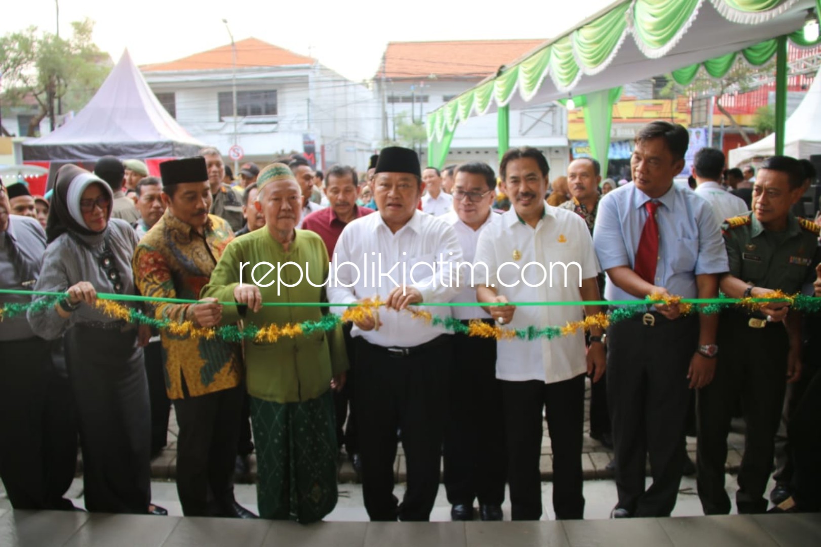
[[[424,303],[456,296],[462,251],[451,226],[416,209],[423,191],[416,153],[383,149],[374,177],[378,214],[342,231],[328,282],[332,304],[374,298],[386,304],[351,329],[362,493],[372,521],[429,520],[439,487],[453,337],[406,308],[450,316],[447,307]],[[407,462],[401,505],[392,494],[399,426]]]

